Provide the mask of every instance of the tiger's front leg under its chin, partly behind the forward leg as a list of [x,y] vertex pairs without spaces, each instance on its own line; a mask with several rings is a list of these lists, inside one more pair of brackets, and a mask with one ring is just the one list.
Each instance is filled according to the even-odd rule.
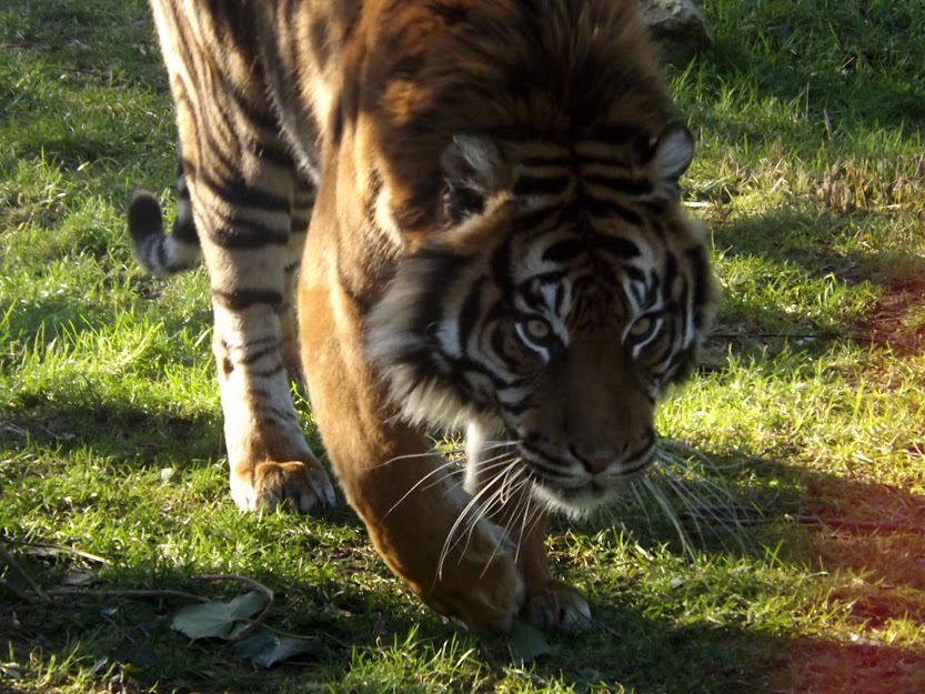
[[[484,512],[503,527],[513,543],[514,560],[523,580],[526,602],[522,616],[544,631],[579,631],[591,624],[587,601],[575,587],[550,573],[545,539],[549,511],[533,499],[526,480],[506,479],[507,461],[515,452],[485,445],[480,428],[466,432],[465,489],[482,502]],[[514,470],[514,469],[512,469]]]

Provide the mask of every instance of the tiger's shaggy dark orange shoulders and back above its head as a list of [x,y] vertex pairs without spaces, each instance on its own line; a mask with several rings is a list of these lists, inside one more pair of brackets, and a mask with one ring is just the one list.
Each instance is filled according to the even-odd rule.
[[645,139],[674,118],[635,0],[335,2],[311,22],[332,67],[316,87],[335,94],[325,135],[352,138],[402,229],[433,225],[440,155],[459,133]]

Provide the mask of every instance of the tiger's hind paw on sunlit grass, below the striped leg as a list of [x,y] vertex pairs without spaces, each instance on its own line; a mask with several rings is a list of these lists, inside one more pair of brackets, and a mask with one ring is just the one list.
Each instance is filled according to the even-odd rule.
[[334,487],[316,460],[257,464],[231,470],[231,496],[242,511],[284,509],[312,513],[334,505]]

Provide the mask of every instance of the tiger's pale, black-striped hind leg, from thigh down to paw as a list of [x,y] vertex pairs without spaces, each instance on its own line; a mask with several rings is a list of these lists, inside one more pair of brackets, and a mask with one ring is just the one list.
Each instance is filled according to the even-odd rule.
[[[212,290],[232,497],[245,511],[331,505],[333,487],[305,443],[286,369],[288,292],[304,239],[292,224],[308,211],[259,64],[245,56],[253,42],[237,33],[248,26],[199,21],[169,2],[152,8]],[[229,56],[241,58],[241,69],[227,66]]]

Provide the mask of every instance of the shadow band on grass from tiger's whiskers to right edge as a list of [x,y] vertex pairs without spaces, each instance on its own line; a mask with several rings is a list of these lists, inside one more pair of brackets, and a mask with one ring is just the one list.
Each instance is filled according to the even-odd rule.
[[[907,450],[922,459],[921,441],[908,442]],[[685,552],[686,542],[707,557],[784,562],[811,572],[851,571],[889,591],[925,591],[925,495],[745,453],[710,455],[707,461],[703,476],[685,480],[684,501],[665,487],[684,539],[658,504],[643,495],[644,509],[635,503],[625,519],[615,514],[635,542],[677,553]],[[609,520],[582,527],[592,534],[612,524]],[[559,525],[560,531],[564,527]],[[903,606],[895,616],[905,612]],[[915,616],[925,624],[925,603]]]

